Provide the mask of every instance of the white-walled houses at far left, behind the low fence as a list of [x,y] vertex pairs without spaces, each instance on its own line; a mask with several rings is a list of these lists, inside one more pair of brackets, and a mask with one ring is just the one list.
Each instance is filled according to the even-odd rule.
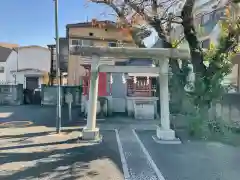
[[[0,78],[5,84],[23,84],[35,89],[48,81],[50,51],[41,46],[1,47],[5,54],[0,65],[4,69]],[[1,68],[0,66],[0,68]],[[1,70],[1,69],[0,69]]]

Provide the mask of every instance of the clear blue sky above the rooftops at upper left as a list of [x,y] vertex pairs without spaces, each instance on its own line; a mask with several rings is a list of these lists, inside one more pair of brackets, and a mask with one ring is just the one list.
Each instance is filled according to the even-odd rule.
[[[53,0],[0,1],[0,42],[42,46],[54,43]],[[87,0],[59,0],[60,36],[65,36],[65,26],[69,23],[86,21],[87,18],[115,18],[109,13],[105,13],[105,17],[101,15],[103,12],[111,12],[107,7],[86,2]]]

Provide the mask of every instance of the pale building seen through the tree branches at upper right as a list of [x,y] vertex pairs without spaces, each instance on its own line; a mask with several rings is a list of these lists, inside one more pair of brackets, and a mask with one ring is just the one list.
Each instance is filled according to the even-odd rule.
[[[217,45],[220,35],[219,21],[227,16],[235,18],[239,15],[240,8],[231,4],[228,0],[198,0],[194,6],[194,23],[202,48],[208,49],[210,44]],[[176,25],[172,31],[172,40],[180,39],[183,36],[182,26]],[[180,45],[181,48],[188,48],[186,41]],[[231,85],[231,92],[240,92],[240,54],[233,58],[232,73],[225,77],[224,84]]]

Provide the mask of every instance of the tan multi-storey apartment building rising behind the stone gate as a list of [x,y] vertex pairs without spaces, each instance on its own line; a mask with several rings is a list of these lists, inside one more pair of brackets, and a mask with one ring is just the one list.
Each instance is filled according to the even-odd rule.
[[[85,69],[91,64],[91,58],[80,56],[75,51],[80,46],[135,46],[131,35],[119,28],[115,22],[96,21],[67,25],[69,43],[68,84],[82,84]],[[111,63],[111,59],[106,59]],[[101,77],[103,74],[100,75]],[[100,90],[101,91],[101,90]]]

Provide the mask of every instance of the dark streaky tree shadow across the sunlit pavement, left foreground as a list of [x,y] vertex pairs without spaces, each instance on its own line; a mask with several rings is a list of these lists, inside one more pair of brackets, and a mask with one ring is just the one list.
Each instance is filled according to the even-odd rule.
[[[92,144],[86,146],[70,147],[65,149],[55,149],[47,152],[7,152],[0,153],[0,164],[14,162],[30,162],[33,165],[26,167],[21,171],[13,172],[3,177],[4,180],[24,179],[30,180],[34,178],[58,179],[58,180],[74,180],[77,178],[95,177],[101,172],[92,169],[90,165],[94,160],[111,160],[122,172],[121,160],[119,158],[118,147],[114,132],[105,132],[104,141],[100,144]],[[76,143],[76,139],[69,141],[61,141],[55,143],[45,143],[41,146],[52,144],[70,144]],[[38,147],[38,144],[23,145],[20,148]],[[19,147],[10,147],[10,149]],[[101,168],[100,168],[101,169]]]

